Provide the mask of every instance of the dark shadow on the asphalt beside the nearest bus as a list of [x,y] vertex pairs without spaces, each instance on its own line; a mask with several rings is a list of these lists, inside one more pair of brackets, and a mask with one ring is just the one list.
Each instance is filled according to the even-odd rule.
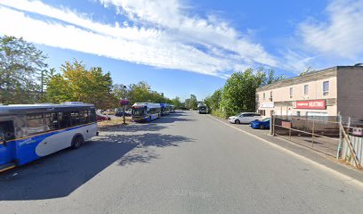
[[0,174],[0,201],[65,197],[112,164],[123,167],[136,162],[147,163],[158,158],[152,148],[191,141],[183,136],[153,133],[100,136],[76,151],[57,152]]

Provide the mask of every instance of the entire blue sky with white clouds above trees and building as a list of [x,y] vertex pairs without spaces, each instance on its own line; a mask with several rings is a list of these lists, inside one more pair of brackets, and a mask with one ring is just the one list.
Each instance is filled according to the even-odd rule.
[[201,100],[249,67],[293,77],[363,62],[362,0],[1,0],[0,20],[51,67],[76,58],[171,98]]

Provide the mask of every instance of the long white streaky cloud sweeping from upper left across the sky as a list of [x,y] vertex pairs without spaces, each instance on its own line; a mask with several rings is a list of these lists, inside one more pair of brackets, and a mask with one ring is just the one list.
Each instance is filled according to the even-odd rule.
[[[2,0],[0,20],[12,21],[4,21],[0,32],[38,44],[222,78],[241,66],[277,64],[262,45],[249,42],[225,21],[190,18],[179,1],[102,2],[117,5],[117,10],[136,24],[108,25],[91,20],[87,14],[39,1]],[[27,12],[48,18],[39,20]]]

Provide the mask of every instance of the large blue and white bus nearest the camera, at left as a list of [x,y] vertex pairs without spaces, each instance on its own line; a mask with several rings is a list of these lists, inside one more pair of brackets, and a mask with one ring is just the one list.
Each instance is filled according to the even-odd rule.
[[0,172],[98,135],[93,104],[0,105]]

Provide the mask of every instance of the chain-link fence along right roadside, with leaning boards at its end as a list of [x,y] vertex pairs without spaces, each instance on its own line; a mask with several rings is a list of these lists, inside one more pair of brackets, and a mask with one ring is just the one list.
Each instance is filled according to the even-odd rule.
[[346,161],[356,168],[363,166],[363,120],[313,116],[277,116],[270,119],[273,136]]

